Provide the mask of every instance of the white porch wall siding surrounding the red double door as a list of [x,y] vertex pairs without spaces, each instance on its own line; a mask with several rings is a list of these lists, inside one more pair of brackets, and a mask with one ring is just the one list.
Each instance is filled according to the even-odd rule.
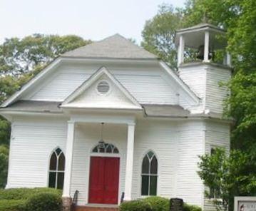
[[[94,146],[98,144],[100,137],[101,125],[81,124],[76,127],[75,142],[73,149],[73,168],[71,179],[71,196],[78,190],[78,205],[88,203],[88,182],[90,157],[97,153],[91,153]],[[121,170],[119,181],[118,202],[121,200],[121,193],[124,192],[125,172],[126,172],[126,144],[127,144],[127,126],[105,124],[103,139],[106,143],[116,145],[119,150]],[[108,154],[106,154],[107,156]],[[116,154],[114,154],[116,155]]]

